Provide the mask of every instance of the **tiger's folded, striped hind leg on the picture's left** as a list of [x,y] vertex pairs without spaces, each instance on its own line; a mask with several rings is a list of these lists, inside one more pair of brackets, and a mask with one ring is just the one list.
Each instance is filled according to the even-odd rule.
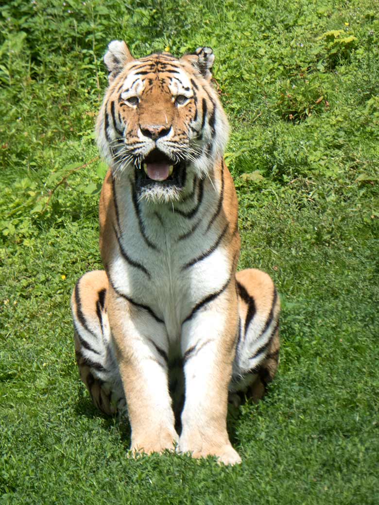
[[104,414],[126,411],[107,315],[108,278],[103,270],[88,272],[71,297],[74,345],[81,380],[94,405]]

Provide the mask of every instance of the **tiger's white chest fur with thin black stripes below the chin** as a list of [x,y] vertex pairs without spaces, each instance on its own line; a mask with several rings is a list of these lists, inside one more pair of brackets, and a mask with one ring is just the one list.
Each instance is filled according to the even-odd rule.
[[109,275],[118,292],[165,323],[170,341],[193,308],[230,277],[227,250],[218,246],[228,225],[209,226],[217,184],[192,183],[193,198],[174,205],[138,202],[127,178],[114,184],[117,242]]

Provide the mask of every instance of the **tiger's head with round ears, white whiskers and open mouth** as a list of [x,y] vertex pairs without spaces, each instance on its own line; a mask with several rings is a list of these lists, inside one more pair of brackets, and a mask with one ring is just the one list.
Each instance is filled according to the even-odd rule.
[[125,42],[113,40],[104,62],[101,153],[115,176],[127,174],[139,199],[180,200],[189,179],[209,175],[227,142],[228,123],[211,84],[212,49],[134,59]]

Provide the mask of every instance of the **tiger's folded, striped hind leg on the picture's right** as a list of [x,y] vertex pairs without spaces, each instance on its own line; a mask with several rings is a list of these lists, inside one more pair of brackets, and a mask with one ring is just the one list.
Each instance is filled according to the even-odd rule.
[[279,297],[268,274],[243,270],[236,274],[236,286],[240,328],[229,386],[234,405],[241,401],[241,395],[258,401],[274,378],[279,360],[280,311]]

